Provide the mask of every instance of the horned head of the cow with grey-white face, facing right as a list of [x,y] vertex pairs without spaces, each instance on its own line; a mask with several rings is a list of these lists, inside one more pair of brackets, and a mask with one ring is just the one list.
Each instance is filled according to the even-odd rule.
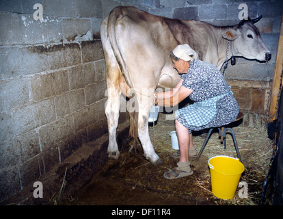
[[247,59],[256,59],[258,61],[268,61],[271,59],[271,52],[265,46],[260,36],[260,31],[254,25],[262,18],[248,18],[226,29],[223,37],[227,40],[233,40],[234,55],[246,57]]

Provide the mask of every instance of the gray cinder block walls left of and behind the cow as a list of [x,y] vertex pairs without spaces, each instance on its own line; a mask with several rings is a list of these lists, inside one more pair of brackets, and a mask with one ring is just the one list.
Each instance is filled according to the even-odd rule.
[[[33,19],[35,3],[43,5],[42,21]],[[280,0],[0,0],[0,201],[107,133],[99,25],[114,7],[233,25],[240,3],[252,18],[263,15],[257,25],[273,57],[269,65],[239,58],[226,77],[269,81]]]

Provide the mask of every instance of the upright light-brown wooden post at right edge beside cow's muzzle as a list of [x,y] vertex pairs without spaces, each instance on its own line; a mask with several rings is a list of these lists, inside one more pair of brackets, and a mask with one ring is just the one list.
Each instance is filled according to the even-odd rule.
[[278,116],[278,99],[282,90],[282,70],[283,70],[283,16],[281,20],[280,35],[278,40],[277,56],[273,74],[273,83],[271,91],[271,102],[269,107],[269,122],[275,120]]

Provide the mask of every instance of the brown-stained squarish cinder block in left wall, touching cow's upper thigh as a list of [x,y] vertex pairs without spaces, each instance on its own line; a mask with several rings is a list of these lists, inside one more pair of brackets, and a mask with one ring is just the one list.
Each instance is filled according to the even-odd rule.
[[81,42],[81,53],[83,63],[104,59],[103,48],[100,40]]

